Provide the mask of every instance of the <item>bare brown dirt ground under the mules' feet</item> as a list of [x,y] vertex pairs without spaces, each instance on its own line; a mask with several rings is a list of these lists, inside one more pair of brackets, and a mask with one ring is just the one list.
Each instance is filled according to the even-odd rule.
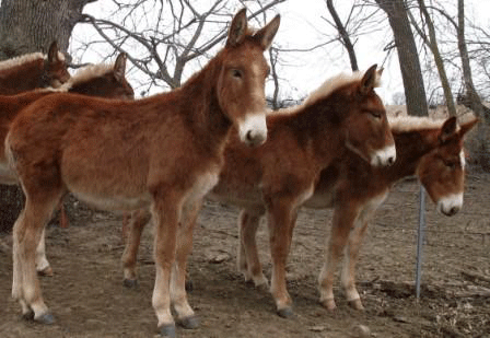
[[[277,316],[268,292],[246,284],[236,271],[237,210],[207,203],[189,259],[189,302],[201,325],[178,328],[178,337],[490,337],[490,175],[469,173],[464,209],[452,218],[428,202],[420,301],[413,288],[418,189],[415,180],[398,184],[370,225],[358,266],[364,312],[348,306],[338,281],[336,312],[319,305],[316,279],[331,212],[301,212],[289,259],[291,319]],[[128,290],[119,261],[120,217],[78,206],[70,218],[69,229],[48,229],[55,276],[42,285],[57,319],[51,326],[21,319],[10,296],[9,236],[1,235],[0,337],[153,337],[151,230],[140,249],[140,285]],[[270,277],[266,226],[258,237]],[[370,334],[359,334],[361,325]]]

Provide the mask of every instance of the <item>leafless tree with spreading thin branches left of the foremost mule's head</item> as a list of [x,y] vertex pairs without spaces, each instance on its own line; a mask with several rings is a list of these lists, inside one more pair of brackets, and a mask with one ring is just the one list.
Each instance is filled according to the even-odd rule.
[[[262,23],[260,14],[283,1],[244,1],[240,5],[249,9],[248,19]],[[143,94],[154,85],[178,88],[186,71],[189,74],[202,65],[225,38],[226,24],[237,10],[224,0],[209,4],[187,0],[118,0],[113,1],[113,9],[110,20],[84,14],[84,22],[101,36],[84,48],[108,44],[113,53],[125,51],[143,74],[140,77]]]

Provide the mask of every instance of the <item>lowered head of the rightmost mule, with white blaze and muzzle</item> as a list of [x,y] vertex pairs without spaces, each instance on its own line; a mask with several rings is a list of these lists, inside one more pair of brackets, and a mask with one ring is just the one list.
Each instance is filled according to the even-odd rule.
[[455,117],[442,125],[436,147],[422,156],[417,175],[438,211],[445,215],[457,213],[463,207],[465,183],[464,136],[477,119],[458,126]]

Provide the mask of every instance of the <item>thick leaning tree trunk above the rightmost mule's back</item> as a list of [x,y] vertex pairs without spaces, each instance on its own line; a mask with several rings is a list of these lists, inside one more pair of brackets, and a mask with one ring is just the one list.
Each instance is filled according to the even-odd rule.
[[376,0],[388,15],[398,51],[409,115],[428,116],[425,89],[413,34],[404,0]]

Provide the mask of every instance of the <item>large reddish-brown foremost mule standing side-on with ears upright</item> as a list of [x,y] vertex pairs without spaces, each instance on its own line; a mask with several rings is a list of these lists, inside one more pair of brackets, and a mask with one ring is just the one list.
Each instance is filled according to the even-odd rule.
[[54,208],[71,191],[102,209],[151,208],[160,334],[175,336],[171,303],[184,327],[198,325],[185,291],[192,234],[178,223],[217,184],[232,126],[247,145],[267,138],[264,51],[279,22],[278,15],[252,32],[240,11],[225,47],[170,93],[135,102],[54,94],[15,118],[5,151],[26,196],[13,230],[12,285],[24,316],[54,322],[40,294],[35,249]]

